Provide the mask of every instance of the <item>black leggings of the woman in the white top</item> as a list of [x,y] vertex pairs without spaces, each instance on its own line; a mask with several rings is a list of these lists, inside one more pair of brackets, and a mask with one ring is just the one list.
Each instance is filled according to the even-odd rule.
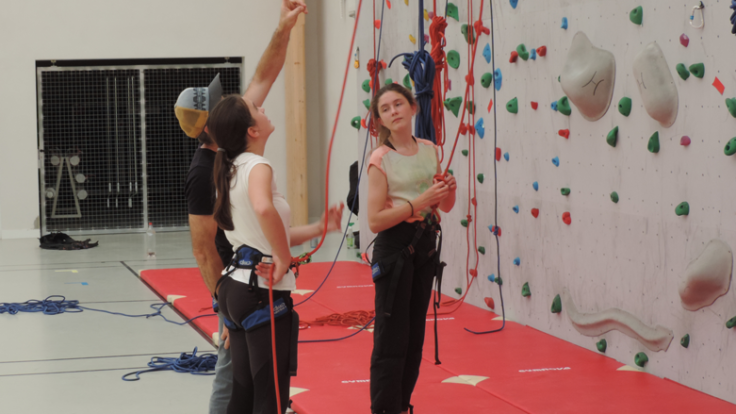
[[[246,283],[225,276],[220,286],[220,310],[226,318],[241,325],[255,310],[268,306],[268,289],[252,291]],[[289,376],[293,302],[288,291],[273,291],[273,300],[283,298],[289,311],[276,319],[276,362],[281,393],[281,412],[289,404]],[[228,414],[274,414],[276,390],[273,379],[270,323],[250,332],[243,329],[230,331],[230,350],[233,360],[233,395],[227,407]]]

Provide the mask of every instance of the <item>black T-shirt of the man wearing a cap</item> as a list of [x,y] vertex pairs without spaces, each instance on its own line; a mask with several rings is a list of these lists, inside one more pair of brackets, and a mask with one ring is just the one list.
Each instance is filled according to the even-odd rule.
[[[214,151],[200,147],[192,157],[187,181],[184,184],[187,211],[191,215],[211,216],[215,211],[216,192],[213,176],[215,155]],[[217,253],[222,259],[223,266],[227,266],[233,256],[233,246],[227,241],[225,232],[219,227],[215,236],[215,246],[217,246]]]

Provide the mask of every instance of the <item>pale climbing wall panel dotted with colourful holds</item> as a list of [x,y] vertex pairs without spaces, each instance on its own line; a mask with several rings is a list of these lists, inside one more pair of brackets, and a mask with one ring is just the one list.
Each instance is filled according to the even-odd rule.
[[[417,0],[392,3],[391,9],[386,6],[383,20],[380,59],[386,62],[398,53],[418,47],[409,38],[418,37]],[[425,3],[432,11],[432,2]],[[444,7],[445,2],[437,3]],[[462,98],[469,56],[461,26],[468,23],[470,2],[453,3],[459,19],[447,18],[445,52],[456,50],[460,65],[449,69],[452,87],[447,98]],[[730,365],[736,358],[736,330],[726,326],[736,316],[736,293],[728,289],[730,252],[727,277],[722,274],[720,281],[723,285],[726,280],[725,295],[712,305],[690,311],[683,307],[679,292],[688,265],[701,256],[711,240],[719,239],[730,248],[736,246],[736,196],[731,191],[736,159],[724,153],[736,135],[736,119],[726,104],[727,98],[736,96],[736,58],[728,52],[734,50],[736,36],[731,34],[728,2],[705,4],[703,28],[690,24],[696,5],[692,1],[519,0],[516,7],[512,3],[516,2],[493,1],[493,22],[490,2],[484,4],[482,21],[488,28],[493,24],[494,36],[478,37],[474,101],[475,120],[483,119],[485,136],[481,139],[477,134],[474,138],[468,133],[460,135],[450,164],[459,188],[455,209],[444,215],[442,222],[443,259],[448,263],[443,293],[457,298],[467,293],[467,302],[484,308],[491,298],[500,313],[499,286],[489,276],[493,275],[494,280],[501,276],[509,319],[595,352],[596,344],[605,339],[606,355],[631,366],[636,366],[635,355],[643,352],[648,363],[640,369],[736,402],[736,373]],[[638,6],[641,10],[632,15]],[[373,35],[378,39],[374,20],[380,19],[381,1],[375,2],[375,18],[373,7],[372,2],[364,1],[361,10],[358,88],[369,78],[365,65],[373,57]],[[472,2],[472,21],[478,20],[480,7],[479,1]],[[444,15],[444,11],[438,14]],[[641,24],[637,24],[639,17]],[[562,27],[563,19],[567,21],[566,29]],[[699,11],[692,21],[699,25]],[[425,22],[425,30],[429,33],[429,21]],[[612,54],[615,81],[605,79],[600,85],[583,86],[585,82],[575,83],[574,79],[584,72],[584,64],[565,70],[578,32],[583,32],[596,48]],[[681,41],[683,34],[689,42]],[[656,95],[655,80],[649,75],[637,79],[643,76],[642,70],[635,76],[637,55],[652,42],[661,48],[672,77],[667,81],[664,76],[664,88],[674,86],[677,91],[677,116],[669,127],[648,114],[640,92],[643,88],[645,95]],[[486,44],[492,47],[495,67],[502,75],[500,85],[488,88],[479,81],[483,74],[493,72],[492,64],[482,54]],[[512,63],[512,52],[520,44],[525,45],[518,49],[522,57],[524,51],[530,52],[530,56],[527,60],[518,57]],[[537,52],[542,46],[546,47],[545,56]],[[427,49],[430,47],[428,44]],[[531,53],[532,49],[536,53]],[[536,59],[532,58],[534,54]],[[601,59],[597,60],[600,63]],[[381,82],[388,78],[402,81],[407,72],[399,63],[397,59],[391,68],[381,71]],[[687,80],[678,75],[679,63],[691,69],[686,69],[690,73]],[[696,76],[701,74],[699,69],[691,67],[698,63],[703,63],[705,69],[702,78]],[[593,72],[591,80],[599,82],[595,74],[600,72]],[[608,111],[600,119],[589,121],[570,102],[570,114],[563,114],[565,99],[561,98],[566,92],[562,85],[566,80],[568,85],[574,84],[572,89],[597,87],[596,93],[605,93],[606,81],[612,82]],[[370,94],[359,90],[358,96],[363,101]],[[632,101],[628,116],[618,108],[624,97]],[[517,113],[507,110],[513,99],[518,102]],[[491,100],[493,106],[489,110]],[[361,102],[358,105],[358,114],[365,118],[367,111]],[[658,108],[667,105],[660,102]],[[445,119],[446,165],[460,117],[447,110]],[[607,142],[607,136],[616,127],[614,147]],[[654,150],[650,144],[655,133],[659,137],[658,152],[649,150]],[[363,153],[365,129],[358,134]],[[472,140],[475,151],[463,155],[461,150],[472,149]],[[496,147],[501,156],[494,163]],[[484,175],[483,183],[478,174]],[[367,180],[361,183],[362,211],[366,211],[366,183]],[[569,189],[569,194],[563,195],[563,189]],[[613,192],[617,202],[613,201]],[[477,214],[469,194],[475,194]],[[683,202],[688,203],[689,214],[678,215],[684,212],[677,209]],[[467,220],[468,215],[471,220],[464,227],[461,220]],[[493,225],[501,228],[500,237],[489,230]],[[372,239],[367,225],[361,228],[361,236],[363,246]],[[478,247],[483,247],[485,254],[476,254]],[[703,258],[700,265],[712,262],[711,267],[723,267],[713,257],[718,256]],[[716,272],[708,268],[708,263],[690,268],[690,273],[696,271],[691,276],[696,282],[699,275]],[[467,280],[473,280],[470,270],[476,266],[478,276],[468,289]],[[527,283],[531,295],[525,297],[522,289]],[[693,286],[699,289],[697,284]],[[453,292],[455,289],[458,291]],[[565,295],[565,291],[569,294]],[[708,294],[708,289],[704,292]],[[552,313],[557,295],[568,300],[562,301],[561,312]],[[565,306],[570,303],[579,313],[589,314],[588,321],[606,328],[599,332],[611,327],[618,329],[591,333],[595,329],[585,325],[587,322],[581,321],[580,315],[576,329],[568,312],[571,306]],[[615,311],[604,312],[611,309]],[[621,317],[620,311],[629,316]],[[632,320],[650,328],[645,332],[639,328],[644,339],[622,333]],[[499,325],[489,323],[488,329]],[[664,333],[673,338],[671,342],[662,340]],[[686,334],[690,338],[687,348],[680,343]],[[657,335],[660,345],[665,343],[658,352],[646,339]]]

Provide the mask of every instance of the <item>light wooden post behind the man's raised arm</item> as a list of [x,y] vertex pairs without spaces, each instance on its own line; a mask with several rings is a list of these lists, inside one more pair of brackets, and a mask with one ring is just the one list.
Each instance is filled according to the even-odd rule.
[[307,85],[304,57],[304,15],[291,30],[284,65],[286,87],[286,199],[291,206],[291,224],[309,222],[307,188]]

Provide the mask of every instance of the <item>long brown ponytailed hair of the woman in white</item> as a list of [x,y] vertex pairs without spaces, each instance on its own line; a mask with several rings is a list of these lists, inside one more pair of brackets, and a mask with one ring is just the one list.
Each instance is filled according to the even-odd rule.
[[255,125],[250,109],[239,95],[227,95],[210,112],[207,129],[220,147],[215,157],[214,217],[223,230],[233,231],[233,215],[230,211],[230,180],[235,175],[233,160],[248,148],[248,128]]

